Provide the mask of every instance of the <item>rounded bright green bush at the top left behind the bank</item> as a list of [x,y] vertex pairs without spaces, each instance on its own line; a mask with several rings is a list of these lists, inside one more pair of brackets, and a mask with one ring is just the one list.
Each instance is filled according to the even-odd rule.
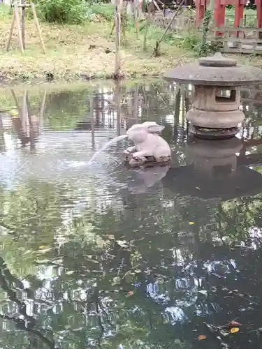
[[83,0],[39,0],[38,15],[46,22],[81,24],[92,12]]

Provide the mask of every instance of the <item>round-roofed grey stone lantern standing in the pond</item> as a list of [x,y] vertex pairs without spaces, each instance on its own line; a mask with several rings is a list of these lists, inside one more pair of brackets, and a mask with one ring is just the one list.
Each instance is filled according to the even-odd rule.
[[194,85],[194,102],[187,112],[189,131],[201,138],[231,138],[245,119],[240,110],[240,87],[262,82],[262,69],[238,66],[220,52],[213,57],[168,70],[163,77]]

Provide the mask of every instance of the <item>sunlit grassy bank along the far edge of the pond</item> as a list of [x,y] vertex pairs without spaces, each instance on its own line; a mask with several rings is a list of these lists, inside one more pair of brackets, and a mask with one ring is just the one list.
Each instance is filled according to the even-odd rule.
[[[77,80],[81,77],[110,77],[114,72],[115,43],[110,36],[112,24],[104,17],[97,16],[95,22],[85,25],[60,25],[41,22],[46,54],[41,52],[38,34],[32,20],[27,19],[26,50],[20,53],[16,36],[12,38],[9,52],[5,45],[12,16],[6,6],[0,5],[0,79],[41,80],[49,73],[55,80]],[[122,70],[126,77],[159,75],[169,67],[183,64],[192,54],[170,45],[170,38],[161,45],[161,57],[151,57],[161,29],[148,31],[147,51],[141,48],[143,31],[136,40],[134,29],[126,30],[122,49]],[[16,34],[16,31],[15,31]],[[107,53],[109,52],[109,53]]]

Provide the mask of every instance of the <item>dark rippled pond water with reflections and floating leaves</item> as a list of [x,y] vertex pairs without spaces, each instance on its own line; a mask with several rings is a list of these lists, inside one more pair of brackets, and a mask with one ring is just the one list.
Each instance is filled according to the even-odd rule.
[[[187,137],[190,87],[1,94],[0,347],[261,348],[260,96],[212,142]],[[127,169],[127,140],[88,165],[147,120],[170,166]]]

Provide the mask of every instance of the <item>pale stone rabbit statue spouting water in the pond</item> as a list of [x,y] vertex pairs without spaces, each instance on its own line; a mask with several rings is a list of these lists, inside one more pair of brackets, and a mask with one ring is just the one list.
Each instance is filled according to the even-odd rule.
[[124,154],[128,155],[130,165],[141,165],[148,161],[156,163],[170,161],[171,150],[168,142],[157,135],[163,128],[164,126],[154,121],[135,124],[129,128],[126,135],[135,145],[127,148]]

